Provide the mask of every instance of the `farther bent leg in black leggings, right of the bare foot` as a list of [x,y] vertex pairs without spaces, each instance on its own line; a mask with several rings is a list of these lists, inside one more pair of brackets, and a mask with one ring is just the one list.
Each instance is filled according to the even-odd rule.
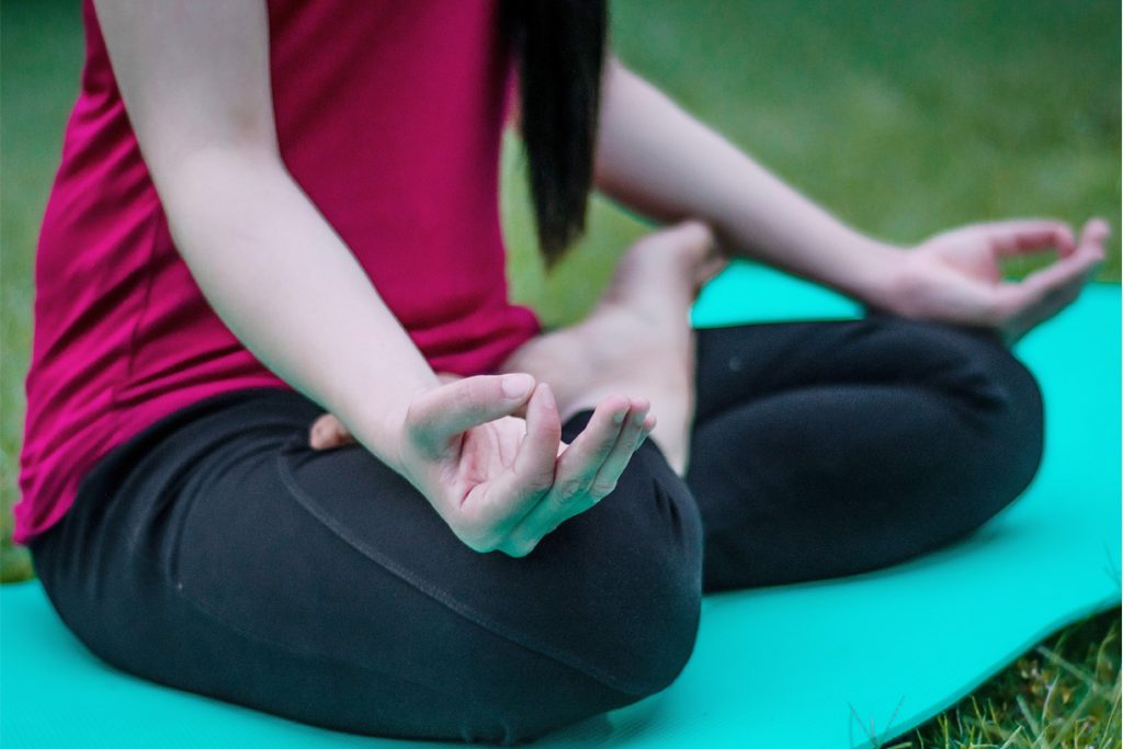
[[1037,381],[982,330],[874,314],[697,334],[686,483],[706,590],[924,554],[1006,506],[1040,464]]

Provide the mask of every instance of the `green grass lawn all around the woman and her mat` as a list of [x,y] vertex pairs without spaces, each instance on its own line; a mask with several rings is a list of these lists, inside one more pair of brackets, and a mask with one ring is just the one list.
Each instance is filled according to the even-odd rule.
[[[10,508],[31,338],[35,238],[82,62],[76,1],[0,6],[0,574],[30,574]],[[1120,8],[1029,0],[613,4],[617,53],[853,226],[902,244],[1015,216],[1120,228]],[[550,325],[600,295],[645,226],[595,200],[547,276],[515,144],[504,157],[512,295]],[[751,197],[747,197],[750,199]],[[1028,272],[1032,263],[1012,267]],[[1104,281],[1119,281],[1117,239]],[[1119,611],[1069,628],[904,747],[1119,746]],[[1057,658],[1053,655],[1057,654]]]

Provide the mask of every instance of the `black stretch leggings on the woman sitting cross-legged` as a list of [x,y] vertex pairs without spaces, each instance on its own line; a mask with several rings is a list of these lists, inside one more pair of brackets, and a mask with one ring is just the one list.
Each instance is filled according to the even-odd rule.
[[648,440],[611,495],[515,559],[468,549],[365,449],[307,447],[320,412],[228,393],[102,458],[31,545],[66,624],[127,672],[298,721],[518,742],[666,687],[703,591],[947,545],[1042,451],[1037,382],[984,331],[883,314],[704,329],[686,481]]

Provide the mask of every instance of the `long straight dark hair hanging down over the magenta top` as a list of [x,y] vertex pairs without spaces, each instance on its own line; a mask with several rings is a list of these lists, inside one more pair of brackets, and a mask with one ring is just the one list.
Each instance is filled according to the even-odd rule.
[[519,70],[538,244],[553,267],[585,230],[608,35],[606,0],[503,0]]

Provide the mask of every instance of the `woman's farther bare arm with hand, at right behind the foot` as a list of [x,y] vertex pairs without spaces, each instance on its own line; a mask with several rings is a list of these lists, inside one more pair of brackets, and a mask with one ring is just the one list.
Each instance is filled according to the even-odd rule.
[[[659,221],[697,218],[731,256],[759,259],[870,307],[998,329],[1008,341],[1079,293],[1103,259],[1107,226],[1080,243],[1060,221],[975,225],[910,252],[865,236],[770,174],[618,60],[606,64],[596,141],[597,190]],[[1002,255],[1057,248],[1022,282]]]

